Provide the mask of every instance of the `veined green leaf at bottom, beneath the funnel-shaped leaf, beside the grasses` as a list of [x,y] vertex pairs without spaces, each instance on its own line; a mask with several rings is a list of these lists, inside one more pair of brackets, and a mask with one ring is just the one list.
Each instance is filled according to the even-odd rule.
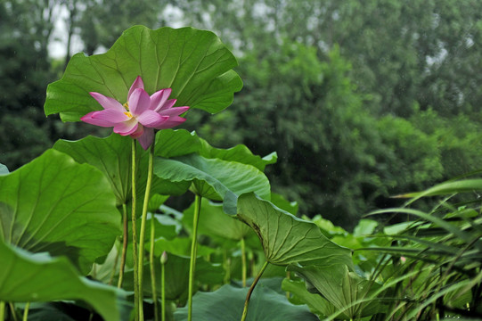
[[381,285],[350,272],[346,265],[300,267],[292,264],[287,269],[303,277],[308,286],[315,288],[337,311],[350,319],[372,316],[385,309],[376,297],[372,298],[372,293]]

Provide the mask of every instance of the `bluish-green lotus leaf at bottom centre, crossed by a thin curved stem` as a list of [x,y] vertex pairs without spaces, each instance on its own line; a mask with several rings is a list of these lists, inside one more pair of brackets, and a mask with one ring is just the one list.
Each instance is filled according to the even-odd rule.
[[[192,319],[196,321],[239,321],[248,288],[225,284],[215,292],[198,292],[192,298]],[[187,320],[187,308],[177,309],[176,321]],[[286,296],[258,285],[249,300],[251,321],[309,321],[318,320],[306,306],[291,304]]]

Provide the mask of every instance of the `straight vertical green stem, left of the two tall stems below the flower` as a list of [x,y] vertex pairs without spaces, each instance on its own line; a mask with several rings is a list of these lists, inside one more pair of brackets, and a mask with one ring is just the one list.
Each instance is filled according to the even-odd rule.
[[136,157],[135,157],[135,140],[132,140],[132,259],[134,261],[134,307],[135,307],[135,321],[139,320],[139,279],[137,273],[137,227],[135,225],[135,205],[136,205]]

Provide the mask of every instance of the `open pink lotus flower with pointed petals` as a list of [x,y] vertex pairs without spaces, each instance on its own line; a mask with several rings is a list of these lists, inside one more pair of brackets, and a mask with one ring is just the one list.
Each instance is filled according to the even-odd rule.
[[173,107],[176,99],[167,99],[171,89],[161,89],[153,95],[144,90],[143,79],[138,76],[129,89],[127,103],[119,103],[99,93],[89,93],[101,104],[103,111],[91,111],[80,120],[103,128],[114,128],[114,133],[131,136],[139,141],[144,150],[154,140],[154,129],[173,128],[185,119],[179,117],[188,106]]

